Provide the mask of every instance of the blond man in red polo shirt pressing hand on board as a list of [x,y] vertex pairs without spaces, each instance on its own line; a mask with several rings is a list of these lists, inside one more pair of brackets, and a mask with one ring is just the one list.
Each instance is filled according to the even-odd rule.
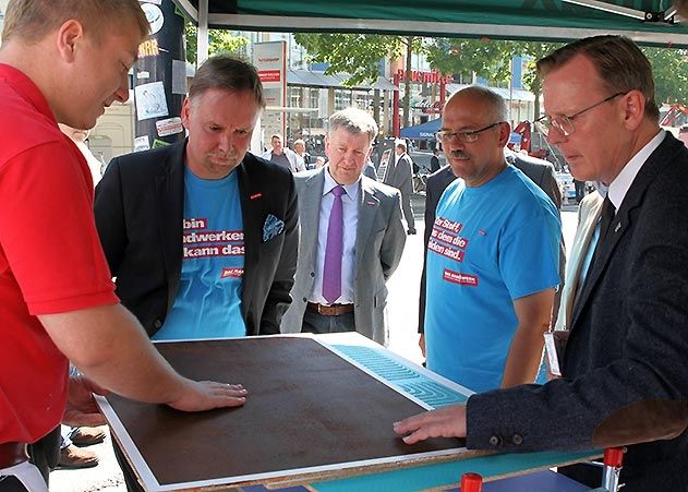
[[[147,32],[136,0],[8,4],[0,47],[0,491],[46,490],[26,444],[63,415],[96,412],[90,391],[186,411],[245,399],[240,385],[179,375],[120,305],[95,229],[88,167],[57,125],[92,128],[105,107],[128,98],[128,72]],[[70,380],[70,360],[102,388]]]

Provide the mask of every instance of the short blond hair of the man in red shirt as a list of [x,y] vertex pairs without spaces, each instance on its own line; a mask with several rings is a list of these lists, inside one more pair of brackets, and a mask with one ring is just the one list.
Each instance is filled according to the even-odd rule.
[[138,0],[10,0],[2,41],[20,38],[37,43],[70,19],[79,21],[95,39],[101,39],[125,21],[136,25],[142,37],[150,32]]

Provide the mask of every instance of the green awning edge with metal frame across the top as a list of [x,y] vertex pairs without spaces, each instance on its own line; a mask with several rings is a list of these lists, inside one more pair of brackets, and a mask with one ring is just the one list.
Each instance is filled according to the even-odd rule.
[[[174,0],[198,20],[198,0]],[[623,34],[643,45],[688,47],[671,0],[205,0],[210,27],[365,32],[570,40]],[[203,12],[201,19],[203,20]]]

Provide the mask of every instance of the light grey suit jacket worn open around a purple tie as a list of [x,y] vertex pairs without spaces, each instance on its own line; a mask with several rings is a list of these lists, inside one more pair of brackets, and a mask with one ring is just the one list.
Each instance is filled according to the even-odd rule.
[[[282,333],[300,333],[307,298],[315,283],[315,256],[321,201],[327,166],[294,176],[299,197],[301,240],[293,299],[282,317]],[[354,259],[354,322],[357,332],[385,345],[386,280],[401,260],[406,231],[399,192],[362,176]]]

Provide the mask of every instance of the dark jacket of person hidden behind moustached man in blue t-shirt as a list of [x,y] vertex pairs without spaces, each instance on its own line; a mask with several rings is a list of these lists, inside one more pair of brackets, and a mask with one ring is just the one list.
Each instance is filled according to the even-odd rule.
[[[547,163],[546,160],[536,159],[530,156],[524,156],[521,154],[516,154],[514,152],[506,153],[506,160],[508,164],[516,166],[520,169],[526,176],[528,176],[535,184],[538,184],[542,191],[550,196],[550,200],[554,202],[557,209],[562,208],[562,192],[559,190],[559,184],[556,181],[554,176],[554,166]],[[451,172],[450,166],[445,166],[439,169],[437,172],[433,172],[427,178],[427,183],[425,184],[425,231],[423,233],[423,244],[424,244],[424,253],[423,253],[423,273],[421,274],[421,292],[419,297],[419,309],[418,309],[418,332],[425,332],[425,264],[426,264],[426,253],[427,253],[427,242],[430,241],[430,235],[433,230],[433,224],[435,223],[435,212],[437,209],[437,203],[439,203],[439,199],[442,194],[447,189],[451,181],[456,179],[454,172]],[[566,250],[564,249],[564,239],[562,239],[559,243],[559,278],[562,279],[562,285],[557,290],[557,293],[554,299],[553,307],[553,321],[552,324],[556,322],[556,315],[559,311],[559,303],[562,299],[562,286],[564,284],[564,274],[566,271]]]

